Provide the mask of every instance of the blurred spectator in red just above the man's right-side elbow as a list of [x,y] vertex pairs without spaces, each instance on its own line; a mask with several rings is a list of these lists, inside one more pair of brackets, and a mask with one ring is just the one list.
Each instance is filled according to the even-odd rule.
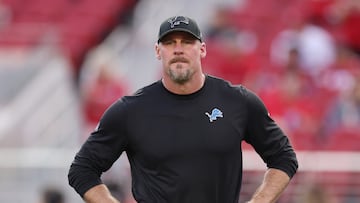
[[[263,80],[258,90],[272,117],[294,141],[295,148],[312,148],[319,130],[319,111],[313,78],[300,67],[299,52],[289,50],[287,63],[259,75]],[[316,100],[316,99],[315,99]]]

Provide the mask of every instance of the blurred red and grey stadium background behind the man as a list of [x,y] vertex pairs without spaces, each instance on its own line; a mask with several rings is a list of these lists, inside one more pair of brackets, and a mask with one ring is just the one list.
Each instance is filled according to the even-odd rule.
[[[204,71],[256,92],[299,172],[279,203],[360,202],[359,0],[0,0],[0,202],[82,202],[70,163],[104,110],[159,79],[160,23],[196,19]],[[241,200],[265,166],[243,144]],[[104,174],[134,202],[125,155]]]

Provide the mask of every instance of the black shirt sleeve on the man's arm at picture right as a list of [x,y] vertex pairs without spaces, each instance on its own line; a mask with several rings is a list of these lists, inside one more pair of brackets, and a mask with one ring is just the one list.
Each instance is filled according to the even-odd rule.
[[254,147],[267,167],[282,170],[293,177],[298,161],[288,137],[270,117],[257,95],[245,90],[245,96],[248,109],[245,141]]

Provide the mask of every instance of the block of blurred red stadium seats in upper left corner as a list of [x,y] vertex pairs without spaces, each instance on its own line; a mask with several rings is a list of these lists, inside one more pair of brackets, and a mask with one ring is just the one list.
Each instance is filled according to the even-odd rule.
[[[12,23],[0,31],[0,48],[31,48],[39,38],[57,31],[58,47],[78,73],[86,52],[106,37],[136,0],[5,0]],[[21,30],[21,31],[19,31]]]

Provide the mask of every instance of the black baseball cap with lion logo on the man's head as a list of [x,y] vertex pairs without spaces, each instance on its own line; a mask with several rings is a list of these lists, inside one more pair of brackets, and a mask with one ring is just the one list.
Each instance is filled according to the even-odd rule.
[[199,26],[193,19],[186,16],[173,16],[161,23],[158,42],[160,42],[165,35],[175,31],[190,33],[195,38],[202,41],[202,34]]

